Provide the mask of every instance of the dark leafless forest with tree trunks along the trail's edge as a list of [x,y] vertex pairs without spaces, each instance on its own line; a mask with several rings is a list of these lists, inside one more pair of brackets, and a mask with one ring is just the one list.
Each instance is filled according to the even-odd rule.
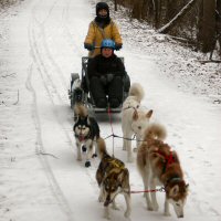
[[129,17],[148,22],[159,33],[213,59],[221,57],[221,0],[113,0],[128,8]]

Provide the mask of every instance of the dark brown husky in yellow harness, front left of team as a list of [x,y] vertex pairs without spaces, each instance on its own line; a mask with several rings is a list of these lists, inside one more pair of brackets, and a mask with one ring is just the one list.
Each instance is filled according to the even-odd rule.
[[125,217],[130,215],[130,186],[129,186],[129,171],[119,159],[110,157],[107,154],[104,139],[97,140],[98,156],[101,158],[99,166],[96,171],[96,180],[101,188],[99,202],[104,202],[105,218],[109,219],[109,204],[113,209],[116,207],[115,198],[118,193],[124,194],[126,201]]

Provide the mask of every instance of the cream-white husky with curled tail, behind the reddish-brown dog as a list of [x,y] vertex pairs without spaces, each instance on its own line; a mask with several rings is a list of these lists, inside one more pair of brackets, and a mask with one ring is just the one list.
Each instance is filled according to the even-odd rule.
[[128,162],[133,162],[131,136],[136,135],[138,146],[152,115],[151,109],[147,112],[140,108],[140,102],[144,96],[145,92],[141,85],[134,83],[129,88],[129,96],[123,104],[122,130],[125,138],[123,149],[127,150]]

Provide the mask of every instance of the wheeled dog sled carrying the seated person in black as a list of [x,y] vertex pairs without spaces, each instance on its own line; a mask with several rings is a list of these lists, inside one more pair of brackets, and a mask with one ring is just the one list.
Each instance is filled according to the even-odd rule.
[[[71,108],[74,107],[75,104],[82,103],[84,104],[90,110],[94,113],[107,113],[109,104],[105,108],[97,107],[95,105],[95,99],[90,92],[90,78],[87,75],[87,64],[90,62],[88,56],[82,57],[82,73],[81,76],[78,73],[72,73],[71,74],[71,85],[69,90],[69,97],[71,102]],[[120,57],[124,62],[124,57]],[[130,86],[130,80],[129,76],[126,74],[126,76],[123,78],[123,101],[122,104],[116,107],[112,108],[112,113],[119,113],[122,112],[122,106],[126,97],[128,96]]]

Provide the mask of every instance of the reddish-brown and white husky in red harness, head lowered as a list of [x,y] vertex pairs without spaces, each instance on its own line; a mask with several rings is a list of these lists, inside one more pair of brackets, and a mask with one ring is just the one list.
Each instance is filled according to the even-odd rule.
[[[137,167],[143,177],[146,190],[162,185],[166,191],[165,215],[170,215],[169,203],[172,204],[178,218],[183,218],[183,207],[188,194],[188,185],[176,151],[162,140],[166,129],[158,124],[149,125],[145,131],[143,144],[138,147]],[[148,210],[158,210],[156,192],[145,193]]]

